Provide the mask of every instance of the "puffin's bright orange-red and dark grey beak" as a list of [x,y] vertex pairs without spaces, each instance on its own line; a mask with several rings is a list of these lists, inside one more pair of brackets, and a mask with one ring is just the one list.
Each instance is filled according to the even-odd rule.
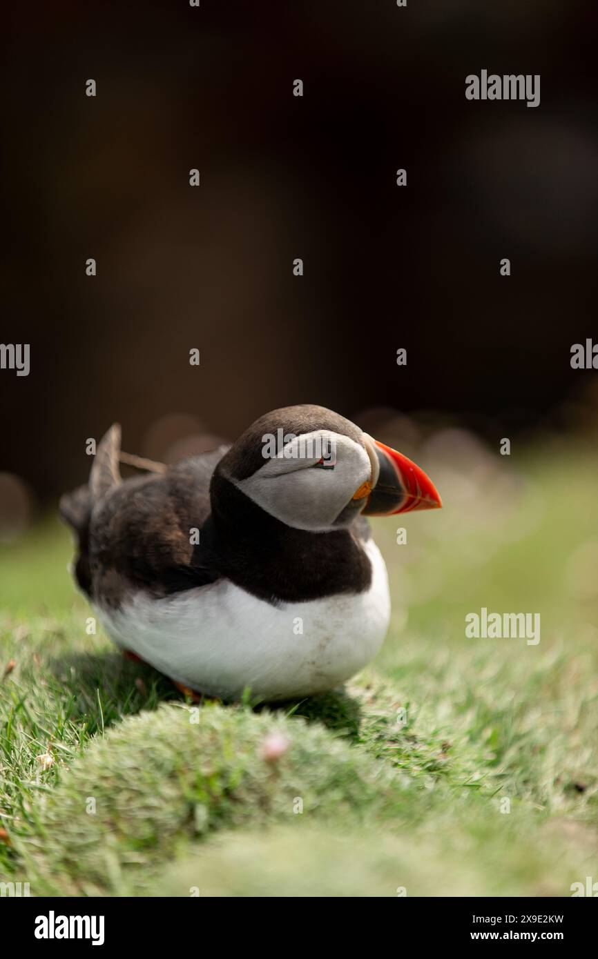
[[364,516],[393,516],[415,509],[438,509],[443,505],[436,486],[416,463],[377,439],[368,436],[367,440],[368,445],[371,444],[371,458],[373,454],[377,459],[379,473],[362,510]]

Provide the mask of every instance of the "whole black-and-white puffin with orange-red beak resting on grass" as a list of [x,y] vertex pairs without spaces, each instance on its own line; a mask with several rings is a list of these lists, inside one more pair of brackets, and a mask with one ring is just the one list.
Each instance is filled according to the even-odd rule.
[[[416,463],[311,404],[169,466],[120,442],[114,424],[60,514],[76,583],[123,652],[225,702],[304,698],[371,661],[391,598],[367,517],[442,505]],[[120,462],[146,472],[122,479]]]

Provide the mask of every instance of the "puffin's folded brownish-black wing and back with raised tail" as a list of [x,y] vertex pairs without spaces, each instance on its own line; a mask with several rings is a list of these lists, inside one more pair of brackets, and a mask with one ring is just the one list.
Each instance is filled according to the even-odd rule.
[[60,503],[79,537],[80,586],[115,605],[137,589],[167,596],[218,579],[205,524],[209,482],[225,449],[124,480],[119,452],[120,430],[112,427],[98,445],[88,486]]

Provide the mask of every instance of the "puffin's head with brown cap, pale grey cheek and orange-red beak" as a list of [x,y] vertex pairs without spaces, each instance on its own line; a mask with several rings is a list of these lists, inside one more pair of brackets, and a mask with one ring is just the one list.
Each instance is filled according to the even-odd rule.
[[407,456],[331,409],[284,407],[256,420],[217,473],[296,529],[327,532],[359,513],[391,516],[441,506],[430,479]]

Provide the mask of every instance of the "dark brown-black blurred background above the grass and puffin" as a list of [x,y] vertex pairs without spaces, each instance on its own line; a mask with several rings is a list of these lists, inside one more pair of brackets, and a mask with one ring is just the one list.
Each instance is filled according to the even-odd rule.
[[[38,500],[114,420],[155,457],[299,402],[492,441],[598,420],[598,373],[569,363],[598,339],[595,5],[4,15],[0,340],[31,343],[31,373],[0,371],[0,470]],[[466,101],[483,68],[540,74],[538,108]]]

